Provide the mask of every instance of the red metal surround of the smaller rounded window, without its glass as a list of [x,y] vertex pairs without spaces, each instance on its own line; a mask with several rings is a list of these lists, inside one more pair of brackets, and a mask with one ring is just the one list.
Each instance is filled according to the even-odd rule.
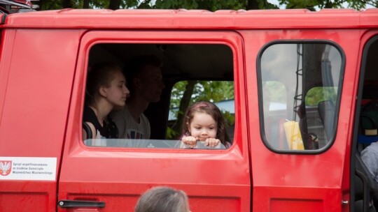
[[[315,211],[349,210],[342,206],[349,192],[350,144],[353,129],[353,96],[356,94],[359,30],[296,30],[243,31],[246,58],[257,59],[258,51],[272,40],[330,40],[346,54],[346,70],[342,88],[341,109],[334,144],[320,154],[300,155],[274,153],[262,143],[258,116],[258,93],[255,63],[246,63],[248,79],[248,123],[251,140],[253,174],[253,211],[276,211],[287,203],[288,211],[303,211],[312,206]],[[349,147],[348,147],[349,146]],[[347,148],[348,147],[348,148]],[[263,174],[262,174],[263,173]],[[342,182],[346,183],[342,183]],[[311,208],[312,209],[312,208]],[[304,210],[309,211],[309,209]]]

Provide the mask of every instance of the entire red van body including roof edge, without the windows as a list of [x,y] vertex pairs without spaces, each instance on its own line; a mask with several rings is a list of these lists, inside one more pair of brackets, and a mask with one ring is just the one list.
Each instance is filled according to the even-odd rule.
[[[15,168],[15,161],[31,158],[30,167],[41,163],[53,172],[36,179],[1,176],[0,211],[134,211],[139,195],[155,185],[185,190],[192,211],[353,211],[356,96],[364,47],[378,35],[377,9],[67,9],[4,16],[0,161],[13,161]],[[227,44],[235,67],[232,147],[188,152],[85,146],[87,52],[98,40]],[[280,153],[263,141],[256,61],[274,40],[328,40],[344,52],[337,131],[323,151]],[[105,206],[64,208],[61,200]]]

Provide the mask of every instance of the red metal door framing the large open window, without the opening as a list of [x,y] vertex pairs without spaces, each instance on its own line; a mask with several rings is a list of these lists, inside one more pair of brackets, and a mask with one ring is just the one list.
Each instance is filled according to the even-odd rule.
[[[104,40],[104,41],[101,41]],[[235,144],[221,151],[185,149],[109,149],[85,146],[80,123],[87,52],[94,43],[221,43],[234,52],[235,70],[244,70],[242,40],[237,33],[211,31],[90,31],[78,55],[66,144],[59,179],[59,199],[106,202],[106,211],[134,211],[139,195],[154,185],[188,193],[193,211],[250,211],[251,179],[246,126],[235,132]],[[235,93],[239,90],[235,82]],[[242,91],[244,92],[244,91]],[[237,104],[240,102],[238,101]],[[245,112],[245,106],[239,105]],[[239,110],[240,110],[239,108]],[[241,119],[240,117],[236,118]],[[241,123],[241,122],[239,122]],[[60,209],[60,208],[59,208]],[[61,211],[64,211],[60,209]],[[99,209],[102,210],[102,209]]]

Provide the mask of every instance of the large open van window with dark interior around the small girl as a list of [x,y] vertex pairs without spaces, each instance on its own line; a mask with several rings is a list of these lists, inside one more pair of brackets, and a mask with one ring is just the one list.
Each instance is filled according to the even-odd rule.
[[[146,61],[152,63],[144,64]],[[205,139],[199,137],[200,142],[197,142],[194,148],[229,147],[232,144],[235,120],[233,61],[231,48],[224,44],[94,45],[90,49],[88,59],[83,109],[83,120],[87,120],[83,121],[84,144],[102,147],[186,149],[188,146],[182,145],[180,140],[181,128],[184,126],[183,113],[194,103],[208,101],[221,110],[219,114],[226,120],[226,128],[223,131],[227,130],[230,139],[228,143],[222,139],[220,145],[214,148],[205,146]],[[100,74],[97,78],[90,78],[99,72],[98,64],[104,62],[106,68],[114,69],[115,65],[119,66],[118,74],[110,72],[111,77]],[[102,68],[100,73],[106,72],[106,68]],[[150,75],[151,77],[148,77]],[[93,83],[88,84],[93,82],[91,79],[102,79],[97,81],[103,84],[107,79],[118,81],[115,84],[109,81],[109,84],[96,87]],[[122,80],[126,82],[125,86],[130,91],[126,100],[125,93],[129,91],[120,83]],[[123,94],[120,93],[121,90]],[[120,104],[120,98],[123,98],[123,104]],[[104,112],[103,105],[110,105],[111,112],[104,117],[102,125],[102,119],[96,116]],[[87,119],[88,111],[90,119]],[[135,115],[135,112],[139,112],[139,115]],[[97,126],[86,126],[90,122],[88,120],[98,121]],[[87,136],[90,132],[93,132],[92,135]],[[221,140],[218,138],[219,135],[216,131],[214,138]]]

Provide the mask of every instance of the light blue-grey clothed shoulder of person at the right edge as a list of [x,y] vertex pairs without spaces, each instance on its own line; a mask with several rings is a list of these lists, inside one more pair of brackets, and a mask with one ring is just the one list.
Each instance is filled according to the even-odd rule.
[[378,142],[372,142],[363,149],[361,151],[361,159],[374,178],[374,181],[378,183]]

